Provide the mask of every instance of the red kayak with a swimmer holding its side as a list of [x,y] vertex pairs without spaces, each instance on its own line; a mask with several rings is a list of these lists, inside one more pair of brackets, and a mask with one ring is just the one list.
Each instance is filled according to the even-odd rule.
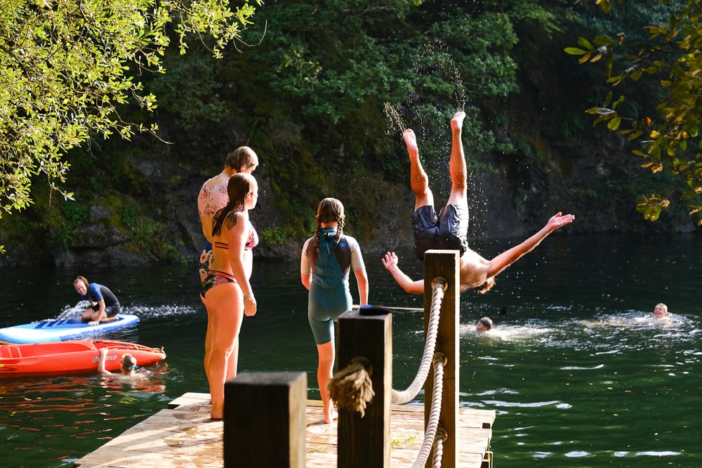
[[0,379],[27,375],[66,375],[98,372],[100,348],[107,348],[105,368],[119,373],[123,354],[135,357],[139,367],[166,359],[160,348],[123,341],[72,340],[31,345],[0,345]]

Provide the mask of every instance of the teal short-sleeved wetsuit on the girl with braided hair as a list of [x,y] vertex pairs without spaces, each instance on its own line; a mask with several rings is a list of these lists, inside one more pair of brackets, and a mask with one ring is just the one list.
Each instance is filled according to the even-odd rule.
[[361,249],[351,236],[341,236],[334,248],[336,227],[319,229],[319,251],[314,248],[314,237],[303,246],[300,272],[312,274],[307,319],[317,345],[324,345],[334,336],[334,322],[352,307],[349,290],[350,268],[364,269]]

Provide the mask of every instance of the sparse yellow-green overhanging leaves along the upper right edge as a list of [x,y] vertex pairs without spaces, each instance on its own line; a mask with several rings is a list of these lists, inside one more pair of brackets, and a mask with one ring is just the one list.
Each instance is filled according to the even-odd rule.
[[[616,11],[609,0],[596,3],[605,13]],[[702,225],[702,8],[696,0],[658,0],[658,4],[668,16],[647,25],[644,40],[632,40],[627,32],[601,34],[581,37],[577,47],[565,51],[579,56],[581,63],[604,64],[613,89],[588,114],[595,116],[595,124],[606,123],[609,130],[640,142],[633,154],[644,159],[642,167],[651,173],[669,171],[684,181],[680,199]],[[622,111],[626,96],[620,88],[627,81],[656,83],[660,98],[652,112]],[[670,187],[668,194],[642,196],[637,210],[645,219],[657,220],[677,191]]]

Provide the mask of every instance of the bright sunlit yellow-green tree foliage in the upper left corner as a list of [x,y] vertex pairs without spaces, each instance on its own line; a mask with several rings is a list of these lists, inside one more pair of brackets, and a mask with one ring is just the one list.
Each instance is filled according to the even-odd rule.
[[249,25],[253,2],[261,0],[242,0],[232,11],[226,0],[2,1],[0,215],[32,203],[37,175],[71,198],[62,189],[66,154],[93,136],[155,133],[156,123],[122,113],[126,102],[156,107],[141,76],[165,71],[171,35],[181,54],[194,35],[221,57]]

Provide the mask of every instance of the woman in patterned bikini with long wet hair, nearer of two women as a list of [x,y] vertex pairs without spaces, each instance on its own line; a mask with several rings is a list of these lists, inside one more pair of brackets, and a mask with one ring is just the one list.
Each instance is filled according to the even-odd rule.
[[250,174],[234,174],[227,185],[229,202],[213,218],[213,260],[201,296],[207,307],[205,373],[212,399],[211,417],[224,413],[224,383],[237,376],[239,330],[246,316],[256,314],[256,298],[249,278],[251,249],[258,234],[249,221],[249,210],[258,201],[258,184]]

